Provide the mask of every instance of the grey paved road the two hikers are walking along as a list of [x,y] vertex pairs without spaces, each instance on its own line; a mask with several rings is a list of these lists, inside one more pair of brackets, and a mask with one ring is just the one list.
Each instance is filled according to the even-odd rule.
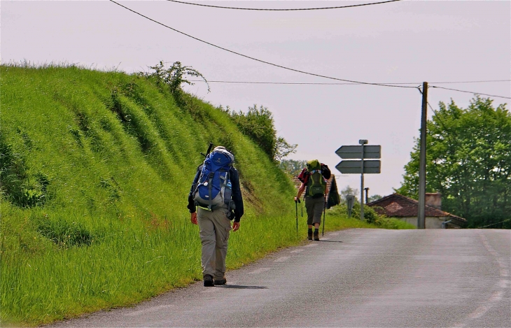
[[510,267],[509,230],[350,229],[54,327],[511,327]]

